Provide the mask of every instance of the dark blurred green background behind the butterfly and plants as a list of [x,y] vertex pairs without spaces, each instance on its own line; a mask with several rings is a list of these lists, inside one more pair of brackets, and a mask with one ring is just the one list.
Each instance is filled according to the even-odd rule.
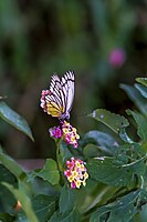
[[0,143],[13,158],[54,157],[48,129],[57,120],[40,108],[51,75],[75,71],[71,123],[80,134],[103,129],[86,114],[125,114],[133,103],[119,83],[147,72],[146,0],[1,0],[0,95],[29,122],[35,142],[0,120]]

